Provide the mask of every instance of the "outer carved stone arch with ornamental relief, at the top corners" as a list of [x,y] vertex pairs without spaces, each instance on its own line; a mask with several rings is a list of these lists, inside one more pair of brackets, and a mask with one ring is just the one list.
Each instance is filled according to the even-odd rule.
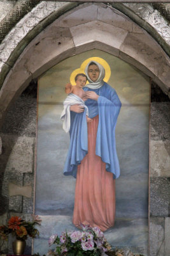
[[[81,2],[43,1],[39,3],[37,1],[33,3],[29,0],[23,3],[22,1],[15,1],[12,10],[8,10],[8,15],[0,21],[0,26],[3,28],[0,42],[6,35],[0,45],[0,86],[18,56],[24,47],[31,42],[32,38],[48,26],[50,22],[78,4],[81,4]],[[115,10],[119,10],[134,20],[141,28],[148,31],[170,56],[170,28],[166,20],[169,12],[167,4],[111,3],[105,5],[106,8],[113,6]],[[34,8],[34,6],[36,7]],[[25,17],[22,19],[24,14]],[[15,26],[18,20],[20,21]],[[13,28],[13,26],[15,27]]]

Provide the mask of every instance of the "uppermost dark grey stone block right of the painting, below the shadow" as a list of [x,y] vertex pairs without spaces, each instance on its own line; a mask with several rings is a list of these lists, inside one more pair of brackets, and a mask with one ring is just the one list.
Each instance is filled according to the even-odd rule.
[[150,118],[151,140],[170,140],[170,102],[152,102]]

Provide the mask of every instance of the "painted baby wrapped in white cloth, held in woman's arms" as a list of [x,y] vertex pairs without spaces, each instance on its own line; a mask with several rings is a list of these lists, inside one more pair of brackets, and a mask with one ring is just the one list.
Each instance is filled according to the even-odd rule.
[[89,118],[89,110],[85,105],[84,90],[82,89],[87,82],[87,76],[85,74],[77,74],[75,77],[76,85],[72,86],[70,83],[66,84],[65,92],[68,94],[66,100],[64,100],[64,109],[61,113],[61,120],[63,121],[63,129],[66,132],[69,132],[70,128],[70,111],[72,110],[73,105],[80,105],[81,109],[79,113],[83,112],[86,109],[86,118],[87,122],[92,122],[92,119]]

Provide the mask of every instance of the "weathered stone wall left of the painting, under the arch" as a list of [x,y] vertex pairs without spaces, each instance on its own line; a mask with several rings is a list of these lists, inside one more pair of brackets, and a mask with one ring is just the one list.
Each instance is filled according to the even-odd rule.
[[[1,129],[1,138],[0,225],[13,215],[31,220],[34,202],[36,84],[31,83],[11,106]],[[12,253],[11,239],[8,244],[4,243],[0,252]],[[25,253],[31,253],[31,239],[27,240]]]

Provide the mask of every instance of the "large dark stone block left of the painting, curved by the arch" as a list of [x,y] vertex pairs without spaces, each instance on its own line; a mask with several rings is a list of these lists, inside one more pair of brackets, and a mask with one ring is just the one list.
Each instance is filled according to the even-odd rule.
[[2,132],[18,136],[36,136],[36,98],[20,97],[6,114]]

